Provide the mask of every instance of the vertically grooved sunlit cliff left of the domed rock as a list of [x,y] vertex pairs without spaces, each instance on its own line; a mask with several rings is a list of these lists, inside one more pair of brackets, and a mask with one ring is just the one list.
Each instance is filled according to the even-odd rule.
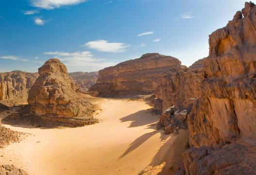
[[22,71],[0,73],[0,103],[9,106],[26,103],[28,91],[37,77],[37,73]]

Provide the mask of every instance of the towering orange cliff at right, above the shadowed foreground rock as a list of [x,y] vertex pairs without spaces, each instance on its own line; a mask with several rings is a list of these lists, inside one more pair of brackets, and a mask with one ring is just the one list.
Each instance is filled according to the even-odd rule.
[[234,139],[256,146],[256,6],[246,2],[242,11],[243,18],[209,36],[202,98],[189,117],[196,147]]

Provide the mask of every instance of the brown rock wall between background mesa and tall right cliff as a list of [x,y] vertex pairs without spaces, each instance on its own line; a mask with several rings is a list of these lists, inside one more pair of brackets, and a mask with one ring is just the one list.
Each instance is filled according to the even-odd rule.
[[187,115],[200,97],[201,77],[200,66],[194,70],[179,66],[164,74],[155,93],[155,109],[162,112],[158,129],[164,129],[169,134],[187,128]]

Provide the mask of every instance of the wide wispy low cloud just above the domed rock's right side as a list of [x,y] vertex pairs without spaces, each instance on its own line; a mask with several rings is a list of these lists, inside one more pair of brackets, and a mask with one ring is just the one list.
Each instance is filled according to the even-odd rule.
[[67,67],[69,72],[77,71],[98,71],[105,67],[116,65],[116,62],[106,61],[106,59],[95,58],[91,52],[45,52],[45,55],[59,58]]

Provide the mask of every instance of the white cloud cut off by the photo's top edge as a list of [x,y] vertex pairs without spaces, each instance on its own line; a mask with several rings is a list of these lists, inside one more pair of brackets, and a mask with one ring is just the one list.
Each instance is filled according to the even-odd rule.
[[56,9],[65,5],[75,5],[87,0],[30,0],[32,6],[42,9]]

